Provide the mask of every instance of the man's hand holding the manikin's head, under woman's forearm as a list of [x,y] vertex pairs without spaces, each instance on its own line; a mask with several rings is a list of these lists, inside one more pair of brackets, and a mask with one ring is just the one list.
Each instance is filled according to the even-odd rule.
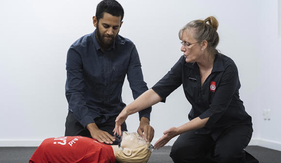
[[[143,132],[143,133],[142,133]],[[149,119],[146,117],[141,117],[140,127],[138,133],[144,137],[147,142],[151,142],[154,137],[154,129],[149,125]]]

